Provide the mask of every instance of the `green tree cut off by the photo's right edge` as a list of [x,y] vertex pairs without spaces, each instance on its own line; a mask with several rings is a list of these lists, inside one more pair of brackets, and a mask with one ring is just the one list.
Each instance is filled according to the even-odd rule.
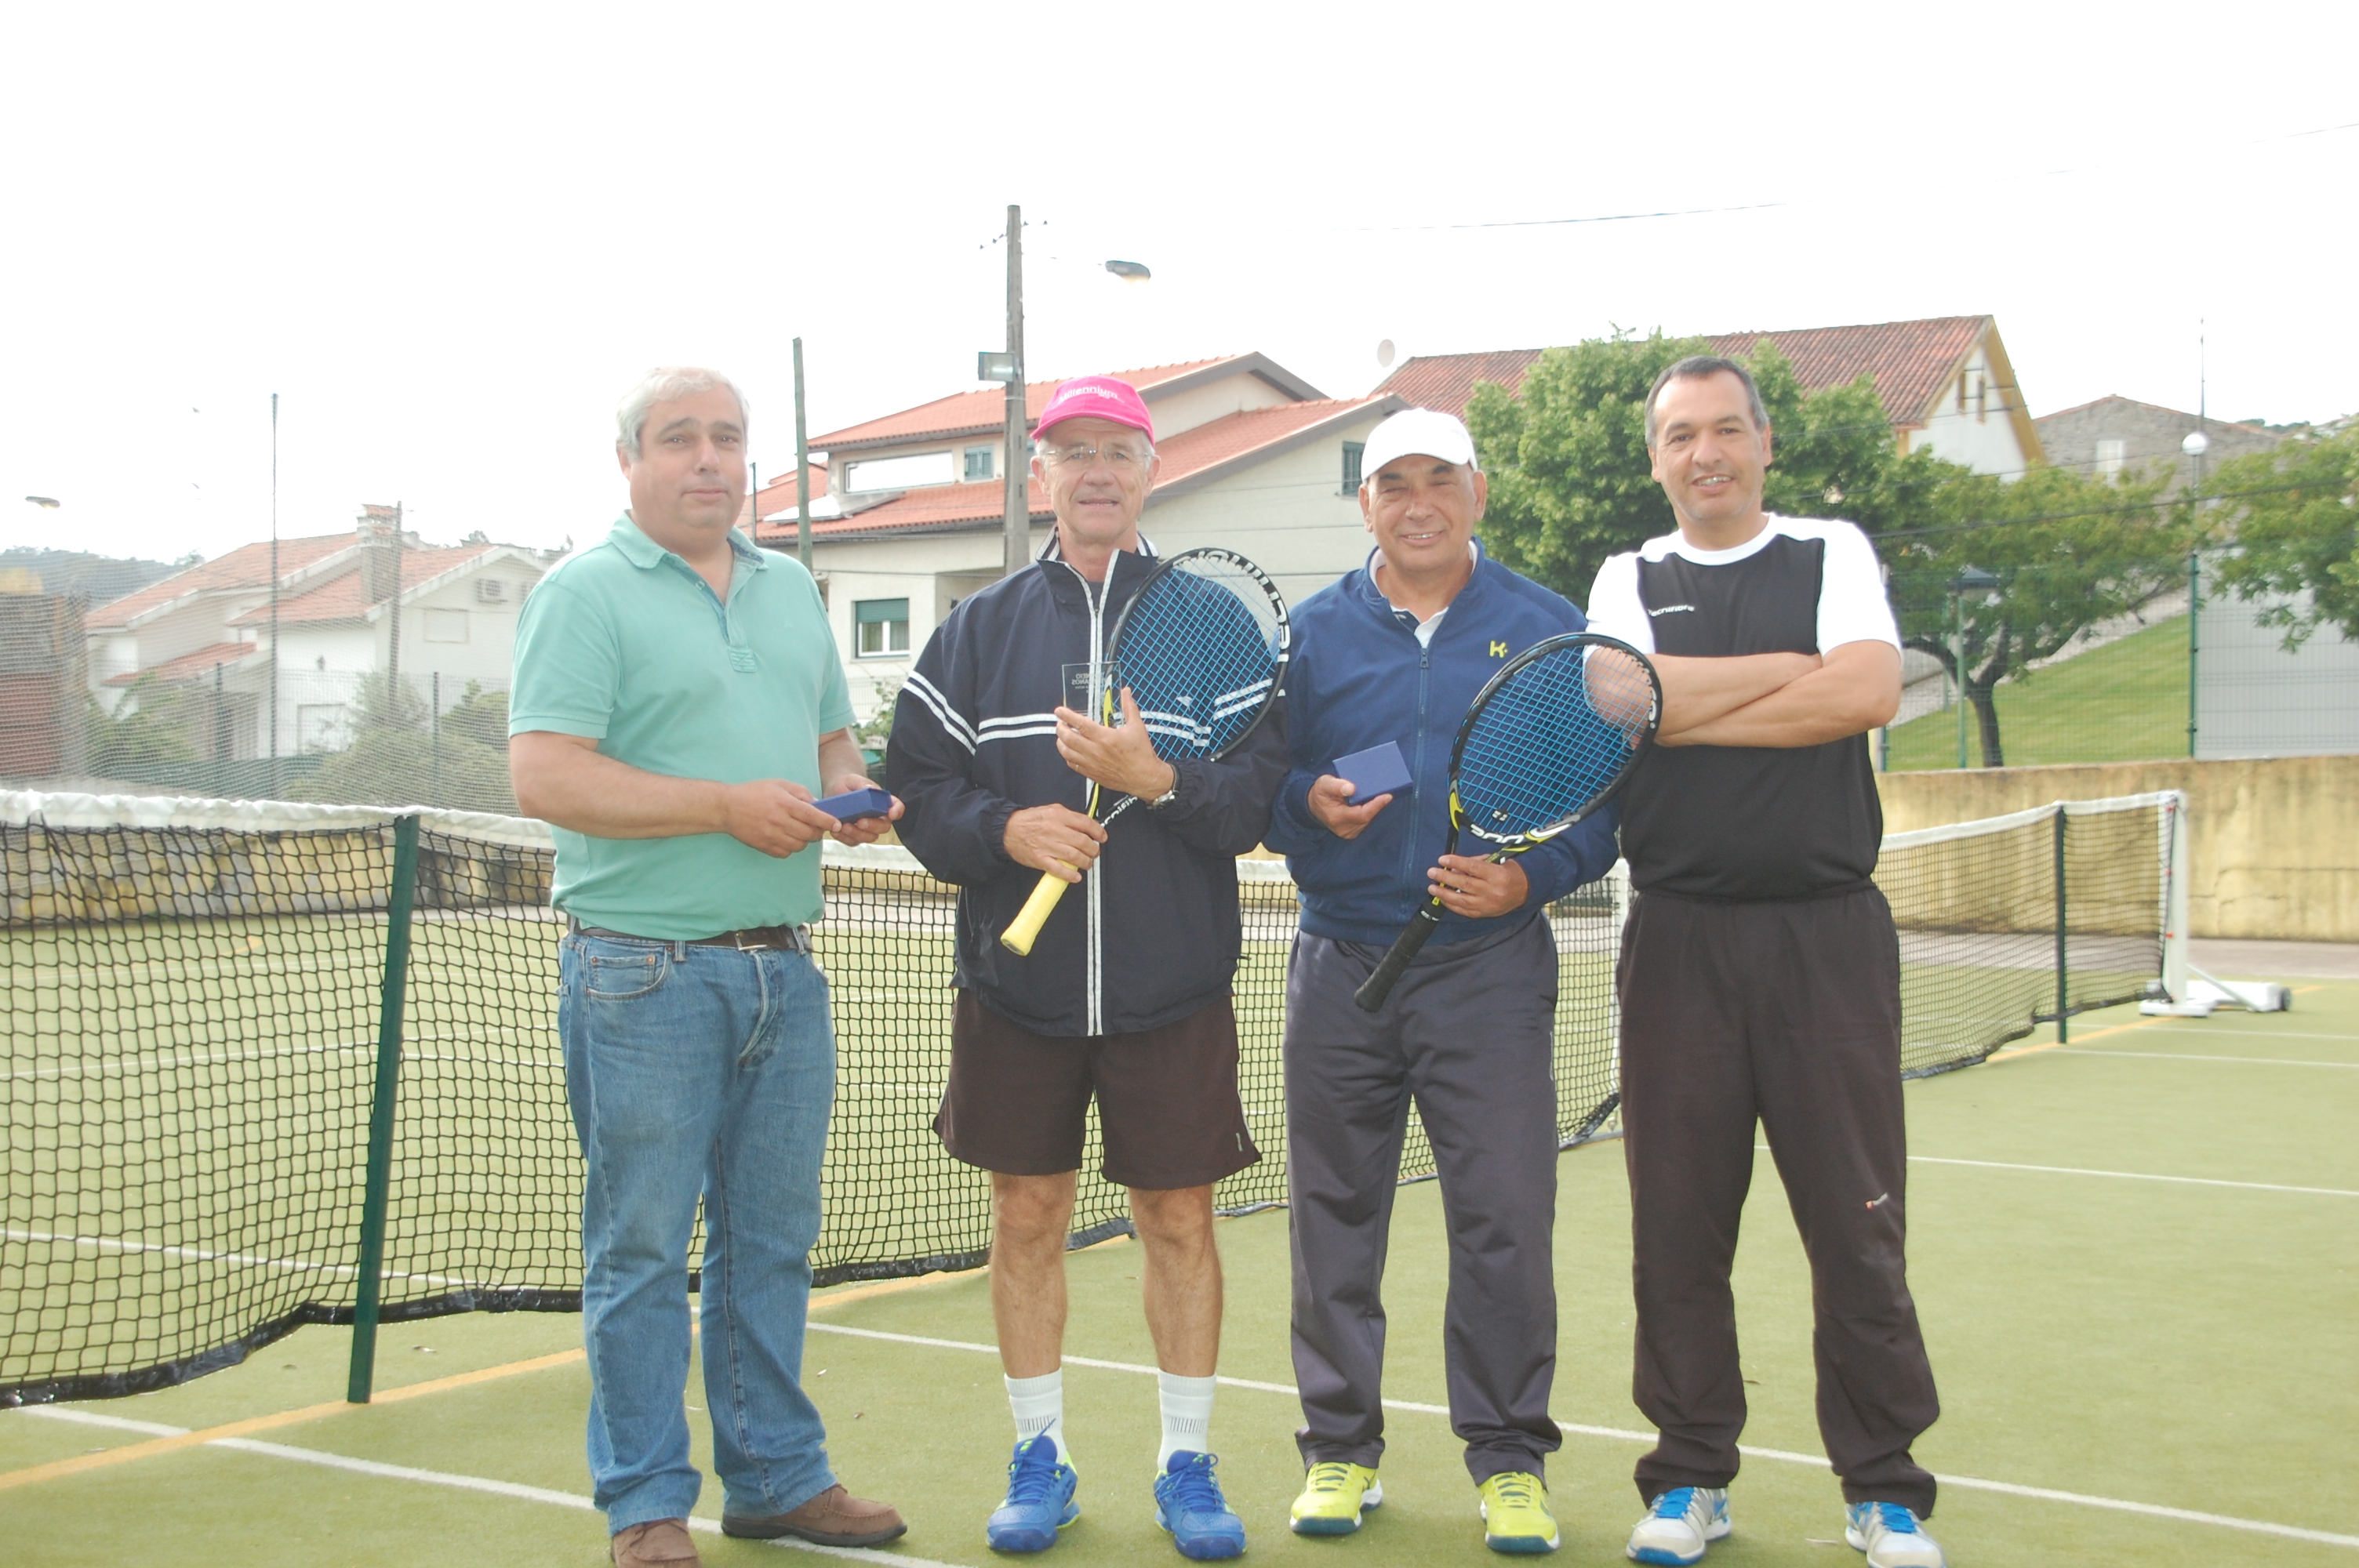
[[2321,625],[2359,641],[2359,424],[2232,457],[2208,488],[2227,500],[2206,521],[2234,542],[2215,582],[2239,599],[2274,599],[2258,620],[2284,627],[2288,653]]

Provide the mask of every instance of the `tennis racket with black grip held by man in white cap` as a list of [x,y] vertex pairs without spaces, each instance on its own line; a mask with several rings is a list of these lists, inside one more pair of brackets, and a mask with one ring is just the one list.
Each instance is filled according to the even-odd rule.
[[[1524,854],[1597,811],[1630,778],[1663,719],[1663,681],[1625,641],[1569,632],[1538,641],[1474,696],[1451,745],[1451,837],[1467,832],[1491,861]],[[1352,995],[1375,1012],[1425,941],[1441,929],[1427,898]]]

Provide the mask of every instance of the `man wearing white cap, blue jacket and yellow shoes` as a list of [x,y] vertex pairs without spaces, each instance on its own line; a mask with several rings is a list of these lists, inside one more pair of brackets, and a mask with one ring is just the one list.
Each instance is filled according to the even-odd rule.
[[[1385,1236],[1408,1106],[1448,1219],[1444,1361],[1496,1551],[1552,1551],[1545,1462],[1557,1365],[1552,1228],[1557,948],[1540,910],[1614,865],[1602,811],[1531,854],[1444,856],[1448,755],[1481,684],[1581,611],[1481,554],[1489,481],[1465,424],[1392,415],[1361,453],[1368,564],[1295,608],[1290,771],[1269,846],[1302,889],[1286,976],[1286,1139],[1295,1382],[1309,1469],[1302,1535],[1345,1535],[1382,1502]],[[1408,783],[1354,804],[1338,757],[1394,743]],[[1352,993],[1411,915],[1441,929],[1366,1014]]]

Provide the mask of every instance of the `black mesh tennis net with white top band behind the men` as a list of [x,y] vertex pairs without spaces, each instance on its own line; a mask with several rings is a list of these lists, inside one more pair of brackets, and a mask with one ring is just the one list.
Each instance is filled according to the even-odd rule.
[[[2175,797],[2064,809],[2066,1012],[2135,995],[2161,971],[2156,889],[2175,809]],[[170,1386],[304,1323],[351,1323],[363,1231],[377,1226],[373,1165],[373,1313],[580,1306],[547,830],[458,811],[413,811],[401,830],[396,816],[0,795],[0,1405]],[[1908,1070],[1979,1061],[2055,1012],[2052,816],[1892,839]],[[1286,1200],[1279,1037],[1295,889],[1276,861],[1238,872],[1243,1094],[1264,1160],[1217,1188],[1224,1212]],[[826,889],[816,950],[840,1087],[816,1280],[977,1266],[986,1179],[929,1129],[948,1066],[955,894],[906,851],[833,844]],[[1618,1132],[1611,979],[1625,903],[1616,870],[1550,908],[1566,1146]],[[396,927],[399,990],[387,983]],[[1095,1167],[1092,1127],[1076,1245],[1128,1231],[1123,1193]],[[1411,1122],[1404,1179],[1430,1174]]]

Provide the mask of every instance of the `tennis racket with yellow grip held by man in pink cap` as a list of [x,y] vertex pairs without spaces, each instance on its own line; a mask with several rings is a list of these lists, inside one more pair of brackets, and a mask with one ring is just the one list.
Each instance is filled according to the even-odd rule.
[[[1156,757],[1224,757],[1269,712],[1286,670],[1290,632],[1286,599],[1260,566],[1234,549],[1184,549],[1156,564],[1113,620],[1106,655],[1116,670],[1095,693],[1099,724],[1121,724],[1121,689],[1137,698]],[[1132,795],[1106,799],[1090,780],[1090,816],[1111,823]],[[1040,872],[1040,887],[1000,934],[1010,953],[1031,953],[1066,879]]]

